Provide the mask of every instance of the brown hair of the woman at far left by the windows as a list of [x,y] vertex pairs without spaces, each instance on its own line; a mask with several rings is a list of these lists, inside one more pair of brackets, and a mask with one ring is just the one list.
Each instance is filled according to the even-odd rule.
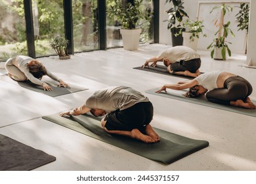
[[45,66],[38,60],[31,60],[28,62],[28,70],[35,78],[41,78],[47,74]]

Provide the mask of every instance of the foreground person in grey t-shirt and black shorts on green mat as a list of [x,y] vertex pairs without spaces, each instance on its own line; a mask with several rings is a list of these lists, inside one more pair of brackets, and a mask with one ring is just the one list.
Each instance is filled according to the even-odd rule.
[[91,112],[105,116],[101,126],[108,133],[124,135],[145,143],[156,143],[159,136],[149,125],[153,118],[153,105],[140,92],[125,86],[112,86],[95,91],[77,108],[62,112],[61,116],[78,116]]

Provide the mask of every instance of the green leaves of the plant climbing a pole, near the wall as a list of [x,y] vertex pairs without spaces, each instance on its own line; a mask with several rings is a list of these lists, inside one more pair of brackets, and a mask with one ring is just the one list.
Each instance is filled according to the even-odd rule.
[[[229,6],[226,6],[225,4],[222,4],[221,7],[213,7],[211,12],[213,12],[215,9],[218,9],[218,8],[221,9],[223,16],[225,16],[226,11],[231,11],[232,12],[232,10],[233,10],[232,7],[229,7]],[[224,17],[223,17],[223,20],[224,20]],[[229,33],[233,37],[235,36],[235,34],[232,32],[232,30],[230,30],[229,26],[230,26],[230,21],[228,21],[226,24],[224,24],[224,22],[223,22],[223,24],[218,25],[219,29],[215,33],[215,35],[217,35],[219,33],[220,34],[218,35],[218,37],[215,37],[215,39],[213,39],[213,42],[207,47],[207,49],[213,48],[213,50],[211,51],[211,58],[213,58],[216,47],[217,48],[222,48],[221,49],[221,55],[222,55],[223,60],[226,60],[226,51],[228,51],[228,55],[231,56],[231,51],[228,47],[228,43],[231,44],[231,42],[226,41],[226,37],[228,37]]]

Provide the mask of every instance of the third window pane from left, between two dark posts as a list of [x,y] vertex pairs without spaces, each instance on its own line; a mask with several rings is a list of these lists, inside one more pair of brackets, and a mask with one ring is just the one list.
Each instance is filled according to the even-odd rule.
[[99,49],[97,0],[72,1],[74,52]]

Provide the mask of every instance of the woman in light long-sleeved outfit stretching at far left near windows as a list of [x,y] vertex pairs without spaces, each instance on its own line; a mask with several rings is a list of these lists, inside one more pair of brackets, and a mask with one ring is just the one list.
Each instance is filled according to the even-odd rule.
[[17,57],[9,58],[5,63],[5,69],[8,76],[16,81],[30,80],[32,83],[42,85],[44,90],[51,91],[51,87],[41,78],[45,75],[49,76],[55,81],[59,81],[59,87],[68,87],[67,83],[51,74],[49,70],[34,58],[19,55]]

